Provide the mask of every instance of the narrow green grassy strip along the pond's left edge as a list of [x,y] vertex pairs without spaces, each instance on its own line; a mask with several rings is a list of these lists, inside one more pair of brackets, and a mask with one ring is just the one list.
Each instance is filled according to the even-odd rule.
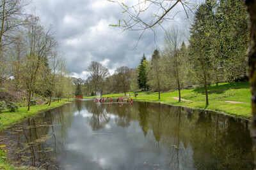
[[[62,99],[59,103],[52,102],[51,106],[48,106],[48,104],[44,105],[36,105],[31,106],[30,111],[28,111],[28,107],[20,107],[19,111],[16,112],[10,112],[8,110],[2,111],[0,113],[0,131],[5,129],[6,127],[9,127],[12,124],[16,124],[24,120],[24,118],[31,117],[32,115],[35,115],[36,113],[41,113],[46,110],[50,110],[52,108],[56,108],[58,106],[61,106],[64,103],[67,103],[67,101],[70,101],[70,99]],[[4,146],[0,146],[0,169],[36,169],[35,167],[14,167],[11,164],[8,163],[8,160],[6,159],[6,151],[4,150]]]

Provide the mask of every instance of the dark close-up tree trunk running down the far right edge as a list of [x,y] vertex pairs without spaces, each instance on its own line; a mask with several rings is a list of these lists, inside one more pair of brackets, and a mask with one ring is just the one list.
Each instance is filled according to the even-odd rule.
[[[250,40],[248,44],[249,77],[252,92],[252,123],[251,135],[253,140],[253,153],[256,156],[256,0],[245,1],[249,13]],[[254,159],[254,164],[256,160]]]

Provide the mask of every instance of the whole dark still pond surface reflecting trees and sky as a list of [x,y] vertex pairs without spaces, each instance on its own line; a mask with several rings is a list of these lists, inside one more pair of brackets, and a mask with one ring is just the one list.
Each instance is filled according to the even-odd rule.
[[45,169],[252,169],[248,121],[169,106],[74,101],[0,134],[17,164]]

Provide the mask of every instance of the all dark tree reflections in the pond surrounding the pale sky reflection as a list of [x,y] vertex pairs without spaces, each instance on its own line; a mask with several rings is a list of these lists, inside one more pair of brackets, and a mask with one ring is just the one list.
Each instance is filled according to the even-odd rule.
[[[17,141],[16,148],[26,164],[42,165],[45,162],[56,164],[65,153],[68,128],[72,124],[72,114],[86,107],[93,114],[90,125],[99,130],[108,124],[107,113],[116,115],[116,125],[128,127],[131,120],[138,120],[144,135],[152,130],[152,139],[159,147],[166,148],[165,163],[169,169],[252,169],[252,141],[248,122],[208,113],[193,111],[164,104],[134,103],[132,107],[115,104],[98,105],[86,101],[84,105],[68,104],[47,111],[40,118],[30,118],[17,134],[10,134],[10,141]],[[38,125],[58,125],[45,126]],[[30,128],[26,128],[26,126]],[[44,143],[33,143],[47,134],[52,137]],[[24,146],[26,143],[26,146]],[[161,146],[159,146],[161,144]],[[54,150],[46,152],[51,146]],[[155,145],[156,146],[156,145]],[[18,153],[14,153],[18,154]],[[20,154],[20,153],[19,153]],[[57,157],[59,155],[59,158]],[[17,156],[18,157],[18,156]],[[54,158],[54,159],[52,159]],[[51,169],[51,166],[44,166]]]

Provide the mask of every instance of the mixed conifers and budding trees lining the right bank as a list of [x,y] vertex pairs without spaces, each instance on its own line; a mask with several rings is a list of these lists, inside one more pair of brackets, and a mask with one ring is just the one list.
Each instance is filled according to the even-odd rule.
[[[122,66],[115,74],[95,81],[97,74],[86,80],[85,91],[100,89],[105,94],[138,90],[178,90],[207,86],[227,81],[248,81],[246,73],[246,44],[248,43],[248,14],[241,0],[206,0],[193,15],[189,39],[175,24],[166,31],[163,49],[154,50],[151,59],[145,55],[135,69]],[[93,63],[92,63],[93,64]],[[92,65],[91,64],[91,65]],[[99,64],[99,63],[98,63]],[[108,71],[106,71],[108,72]]]

